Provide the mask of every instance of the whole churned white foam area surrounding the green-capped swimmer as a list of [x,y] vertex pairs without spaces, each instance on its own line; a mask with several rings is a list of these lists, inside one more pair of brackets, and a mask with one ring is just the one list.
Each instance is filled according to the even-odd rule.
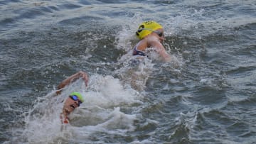
[[[81,92],[85,101],[70,114],[70,123],[63,126],[59,117],[63,107],[61,101],[73,91]],[[54,92],[50,92],[38,99],[33,109],[26,113],[26,126],[21,137],[27,143],[65,143],[90,141],[90,135],[99,133],[125,134],[134,130],[133,122],[137,118],[120,109],[132,109],[134,104],[142,104],[141,98],[134,89],[124,88],[119,79],[109,75],[92,75],[88,87],[78,79],[65,87],[62,94],[54,96]]]

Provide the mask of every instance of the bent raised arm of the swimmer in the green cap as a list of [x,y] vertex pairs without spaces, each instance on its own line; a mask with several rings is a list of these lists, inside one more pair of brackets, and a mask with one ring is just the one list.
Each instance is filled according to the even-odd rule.
[[63,87],[65,87],[66,85],[75,82],[77,79],[79,79],[80,77],[82,77],[82,79],[85,81],[85,86],[87,87],[88,84],[88,75],[86,72],[77,72],[73,75],[71,75],[70,77],[68,77],[67,79],[64,79],[63,82],[60,82],[60,84],[58,85],[57,89],[58,91],[56,92],[56,94],[60,94],[61,89]]

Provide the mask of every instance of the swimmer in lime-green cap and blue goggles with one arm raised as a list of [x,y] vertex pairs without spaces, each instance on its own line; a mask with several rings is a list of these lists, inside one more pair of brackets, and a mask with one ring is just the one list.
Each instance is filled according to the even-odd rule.
[[[87,75],[87,73],[80,71],[80,72],[77,72],[77,73],[71,75],[67,79],[63,80],[63,82],[60,82],[60,84],[58,85],[58,90],[57,90],[56,94],[60,94],[61,90],[65,86],[67,86],[68,84],[70,84],[72,82],[75,82],[80,77],[82,77],[82,79],[85,81],[85,85],[87,86],[88,75]],[[83,101],[84,101],[84,98],[83,98],[82,94],[80,94],[79,92],[72,92],[71,94],[69,94],[68,98],[65,99],[63,111],[62,111],[62,113],[60,113],[61,122],[69,123],[68,115],[71,112],[73,112],[77,107],[79,107]]]

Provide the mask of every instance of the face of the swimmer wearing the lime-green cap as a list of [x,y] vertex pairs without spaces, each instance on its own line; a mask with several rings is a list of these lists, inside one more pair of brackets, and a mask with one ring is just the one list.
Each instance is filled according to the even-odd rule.
[[74,100],[72,96],[69,96],[68,99],[65,100],[63,106],[63,113],[65,113],[65,115],[70,114],[72,111],[75,110],[75,108],[80,106],[81,103],[82,102],[80,101],[80,99],[77,98],[76,100]]

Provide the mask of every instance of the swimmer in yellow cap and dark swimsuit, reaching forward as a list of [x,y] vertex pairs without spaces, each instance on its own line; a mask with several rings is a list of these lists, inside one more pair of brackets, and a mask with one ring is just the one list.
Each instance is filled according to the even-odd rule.
[[166,52],[164,45],[164,28],[155,21],[144,21],[139,25],[136,32],[140,39],[135,45],[132,55],[146,56],[146,48],[153,48],[159,53],[161,60],[165,62],[171,61],[171,56]]

